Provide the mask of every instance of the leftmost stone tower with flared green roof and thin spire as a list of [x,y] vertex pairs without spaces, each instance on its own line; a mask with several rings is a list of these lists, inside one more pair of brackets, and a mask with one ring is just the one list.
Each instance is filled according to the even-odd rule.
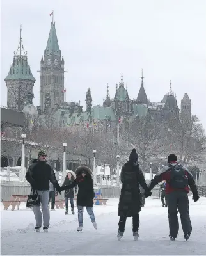
[[29,93],[33,92],[35,77],[28,64],[28,56],[24,52],[22,42],[22,25],[20,26],[20,40],[17,51],[13,56],[13,63],[5,78],[7,86],[7,106],[15,111],[22,111]]

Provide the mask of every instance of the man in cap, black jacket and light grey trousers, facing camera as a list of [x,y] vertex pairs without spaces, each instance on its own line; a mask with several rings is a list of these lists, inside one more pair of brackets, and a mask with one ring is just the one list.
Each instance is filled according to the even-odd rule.
[[47,232],[49,228],[49,182],[54,184],[56,191],[61,191],[61,187],[56,180],[54,170],[52,169],[51,165],[47,163],[46,157],[47,154],[45,150],[39,150],[38,159],[29,166],[25,176],[26,180],[31,184],[31,192],[33,191],[33,193],[40,196],[40,202],[42,206],[42,212],[40,211],[40,206],[36,205],[33,207],[36,220],[36,232],[40,231],[42,222],[44,232]]

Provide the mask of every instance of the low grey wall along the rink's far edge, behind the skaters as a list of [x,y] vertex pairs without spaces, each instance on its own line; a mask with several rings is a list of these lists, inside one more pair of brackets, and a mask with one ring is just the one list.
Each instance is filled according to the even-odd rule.
[[[98,186],[95,188],[95,192],[101,191],[104,198],[119,198],[121,188],[114,186]],[[1,201],[10,199],[11,195],[29,195],[31,186],[28,182],[20,181],[3,181],[1,180]],[[152,189],[152,197],[159,198],[160,190],[159,186]],[[59,195],[59,198],[64,198],[64,192]]]

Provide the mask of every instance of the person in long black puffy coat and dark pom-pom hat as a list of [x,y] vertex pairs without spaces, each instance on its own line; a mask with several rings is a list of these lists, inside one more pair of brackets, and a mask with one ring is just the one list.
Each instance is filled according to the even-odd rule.
[[138,154],[135,149],[132,150],[129,156],[129,161],[122,167],[120,177],[122,181],[122,189],[118,207],[118,216],[120,216],[120,220],[117,237],[119,240],[122,238],[127,217],[132,217],[133,236],[136,240],[139,237],[139,212],[141,211],[139,183],[145,190],[145,197],[151,196],[152,193],[147,188],[145,177],[139,168]]

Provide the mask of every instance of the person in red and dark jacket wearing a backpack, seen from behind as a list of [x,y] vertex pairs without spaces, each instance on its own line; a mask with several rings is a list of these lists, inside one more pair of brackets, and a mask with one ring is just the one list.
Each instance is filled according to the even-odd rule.
[[[180,213],[184,239],[189,239],[192,232],[192,225],[189,216],[189,186],[193,193],[194,202],[198,201],[200,196],[196,188],[193,175],[189,170],[177,162],[177,156],[170,154],[168,156],[168,165],[164,166],[151,180],[149,189],[154,188],[159,182],[166,180],[166,196],[168,201],[168,220],[170,228],[170,240],[177,238],[179,223],[177,213]],[[178,210],[178,211],[177,211]]]

